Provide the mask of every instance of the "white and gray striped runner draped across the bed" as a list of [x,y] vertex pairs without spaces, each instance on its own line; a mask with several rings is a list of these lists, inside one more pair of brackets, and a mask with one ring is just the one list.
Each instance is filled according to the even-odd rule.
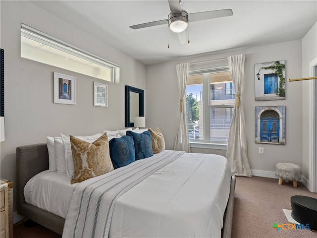
[[79,183],[72,195],[63,238],[107,238],[116,199],[160,168],[182,156],[164,150],[110,173]]

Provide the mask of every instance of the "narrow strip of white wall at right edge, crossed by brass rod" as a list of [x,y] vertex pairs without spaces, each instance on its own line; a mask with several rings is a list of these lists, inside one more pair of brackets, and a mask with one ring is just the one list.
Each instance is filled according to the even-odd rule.
[[[311,68],[309,67],[310,62],[317,59],[317,23],[310,29],[310,31],[303,37],[302,39],[302,77],[311,77],[310,71]],[[307,180],[307,182],[312,181],[313,175],[310,174],[311,170],[311,161],[310,161],[310,140],[309,134],[311,127],[310,125],[310,105],[311,105],[311,98],[310,94],[308,93],[312,87],[312,81],[301,81],[301,82],[294,82],[296,85],[302,84],[302,92],[303,92],[303,176]],[[316,83],[316,82],[315,82]],[[316,102],[317,103],[317,102]],[[316,145],[315,145],[316,147]],[[315,158],[316,161],[316,158]],[[317,163],[317,161],[316,161]],[[316,181],[317,184],[317,181]],[[312,187],[309,186],[312,190]]]

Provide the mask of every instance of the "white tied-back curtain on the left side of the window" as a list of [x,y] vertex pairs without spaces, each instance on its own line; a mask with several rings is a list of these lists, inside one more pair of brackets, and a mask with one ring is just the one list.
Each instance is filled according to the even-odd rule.
[[178,131],[174,150],[190,152],[190,144],[186,122],[186,84],[189,72],[189,63],[180,63],[176,65],[178,78],[178,92],[180,97],[180,108],[178,109]]

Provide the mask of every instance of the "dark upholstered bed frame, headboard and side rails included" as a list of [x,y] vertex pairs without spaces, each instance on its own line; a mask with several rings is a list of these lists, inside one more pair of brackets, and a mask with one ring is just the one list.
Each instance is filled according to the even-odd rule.
[[[47,144],[34,144],[16,148],[17,172],[17,212],[53,232],[62,235],[65,219],[25,202],[23,188],[27,181],[36,174],[49,169]],[[223,217],[222,238],[231,238],[234,189],[236,179],[231,177],[229,200]]]

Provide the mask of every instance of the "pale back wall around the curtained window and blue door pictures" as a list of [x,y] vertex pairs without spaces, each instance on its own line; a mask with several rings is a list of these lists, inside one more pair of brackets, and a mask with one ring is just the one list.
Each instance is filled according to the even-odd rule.
[[[276,60],[285,60],[285,77],[298,78],[302,74],[301,40],[283,42],[260,47],[250,47],[226,51],[218,54],[197,56],[187,59],[147,66],[146,69],[146,110],[147,125],[159,126],[164,134],[166,147],[173,149],[177,131],[177,112],[179,96],[176,76],[176,64],[219,59],[231,55],[244,54],[245,81],[241,93],[243,103],[248,156],[251,169],[268,171],[274,175],[277,162],[292,162],[302,165],[302,87],[286,81],[286,99],[275,101],[255,101],[255,64]],[[255,143],[255,107],[286,106],[286,144]],[[264,147],[264,154],[259,154],[259,147]],[[216,153],[225,155],[223,150],[192,149],[193,152]]]

